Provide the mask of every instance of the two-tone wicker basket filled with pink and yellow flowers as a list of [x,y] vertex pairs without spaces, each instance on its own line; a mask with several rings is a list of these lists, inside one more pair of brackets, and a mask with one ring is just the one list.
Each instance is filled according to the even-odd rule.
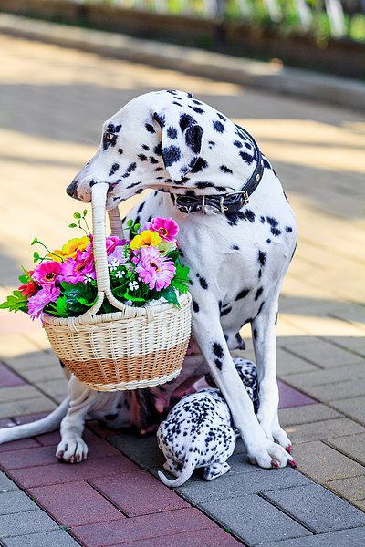
[[[88,387],[156,386],[178,376],[190,337],[179,228],[172,219],[154,218],[142,226],[130,221],[129,240],[106,237],[106,189],[98,186],[93,235],[84,211],[70,226],[84,224],[85,235],[60,250],[51,252],[36,238],[32,244],[46,253],[34,253],[36,267],[24,270],[22,285],[0,307],[40,317],[59,359]],[[120,224],[119,212],[118,218]]]

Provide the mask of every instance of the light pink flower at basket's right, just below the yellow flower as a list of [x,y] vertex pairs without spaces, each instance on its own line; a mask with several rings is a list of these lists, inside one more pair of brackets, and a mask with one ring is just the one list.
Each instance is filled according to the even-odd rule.
[[150,290],[161,291],[170,285],[175,265],[155,247],[141,247],[132,260],[136,263],[136,272],[143,283],[149,284]]

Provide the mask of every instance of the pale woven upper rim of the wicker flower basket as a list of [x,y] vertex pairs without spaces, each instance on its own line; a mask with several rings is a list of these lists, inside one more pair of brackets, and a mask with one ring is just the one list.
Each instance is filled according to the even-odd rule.
[[[179,304],[182,306],[185,304],[190,304],[192,301],[192,295],[190,293],[182,293],[178,295]],[[147,308],[153,308],[154,315],[162,312],[176,308],[176,311],[179,311],[181,308],[178,308],[176,304],[172,302],[164,302],[162,304],[147,304],[141,307],[135,307],[136,315],[134,318],[146,317],[149,320],[149,311]],[[110,321],[118,321],[124,319],[130,321],[132,317],[126,317],[124,312],[111,312],[110,314],[83,314],[83,315],[70,315],[68,317],[55,317],[53,315],[44,315],[43,325],[55,325],[55,326],[68,326],[72,329],[77,325],[93,325],[98,323],[110,323]]]

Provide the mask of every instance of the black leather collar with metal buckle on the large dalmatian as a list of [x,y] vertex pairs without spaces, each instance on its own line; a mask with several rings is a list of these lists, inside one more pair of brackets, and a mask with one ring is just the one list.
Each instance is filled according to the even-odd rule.
[[214,207],[223,214],[232,214],[237,212],[244,205],[247,205],[250,195],[255,191],[259,182],[262,179],[264,172],[264,164],[262,154],[258,148],[255,139],[245,131],[237,126],[237,128],[245,134],[245,137],[250,139],[254,150],[256,167],[251,177],[245,183],[245,186],[240,191],[234,191],[230,193],[217,194],[215,196],[183,196],[173,194],[175,206],[182,212],[205,212],[205,207]]

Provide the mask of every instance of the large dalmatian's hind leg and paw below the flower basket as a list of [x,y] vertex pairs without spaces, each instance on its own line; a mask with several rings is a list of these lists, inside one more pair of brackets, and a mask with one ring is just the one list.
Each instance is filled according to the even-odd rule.
[[72,376],[68,383],[68,395],[71,401],[68,413],[61,422],[61,441],[57,446],[56,456],[69,463],[78,463],[88,455],[88,445],[82,439],[85,417],[100,394]]

